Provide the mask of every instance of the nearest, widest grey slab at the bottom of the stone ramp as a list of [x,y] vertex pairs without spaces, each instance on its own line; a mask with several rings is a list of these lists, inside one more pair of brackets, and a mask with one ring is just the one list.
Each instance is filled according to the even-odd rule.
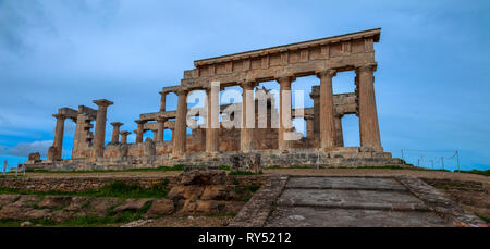
[[439,227],[451,226],[431,212],[280,207],[268,227]]

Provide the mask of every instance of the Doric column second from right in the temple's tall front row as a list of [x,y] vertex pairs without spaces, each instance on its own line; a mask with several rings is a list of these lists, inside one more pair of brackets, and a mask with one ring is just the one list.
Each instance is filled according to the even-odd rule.
[[333,108],[332,77],[335,70],[324,70],[317,74],[320,79],[320,148],[322,150],[335,146],[335,123]]

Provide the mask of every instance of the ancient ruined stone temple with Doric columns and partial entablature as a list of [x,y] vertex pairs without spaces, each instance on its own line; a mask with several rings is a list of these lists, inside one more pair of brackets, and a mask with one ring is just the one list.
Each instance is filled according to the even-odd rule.
[[[184,72],[181,85],[163,87],[159,92],[160,110],[143,113],[135,121],[134,144],[127,142],[131,132],[121,130],[124,124],[114,122],[111,123],[112,140],[106,145],[107,112],[113,104],[111,101],[95,100],[97,110],[85,105],[79,105],[78,110],[62,108],[53,115],[57,119],[56,136],[47,160],[30,160],[25,164],[48,170],[229,165],[230,157],[234,154],[257,153],[264,166],[400,164],[400,159],[383,152],[378,125],[373,87],[378,64],[373,43],[379,41],[380,34],[381,29],[371,29],[195,61],[195,69]],[[333,95],[332,78],[344,71],[355,71],[355,92]],[[319,82],[310,94],[314,108],[293,109],[292,84],[298,77],[310,75],[316,75]],[[270,80],[280,85],[279,100],[268,90],[256,88]],[[228,87],[242,87],[242,103],[222,104],[219,113],[215,113],[211,107],[219,98],[213,96],[211,83],[216,82],[220,83],[218,94]],[[187,96],[196,90],[206,91],[206,107],[188,109]],[[255,95],[245,94],[250,91]],[[170,92],[177,96],[174,111],[166,108],[166,97]],[[266,101],[266,109],[259,110],[260,101]],[[246,114],[250,113],[249,109],[254,109],[253,119]],[[188,134],[188,117],[196,113],[204,113],[209,122],[205,127],[192,128]],[[359,119],[360,147],[344,147],[342,117],[346,114]],[[252,122],[255,124],[253,128],[244,125],[225,128],[220,115],[223,120],[238,119],[241,124],[255,120]],[[294,117],[306,121],[306,137],[291,126]],[[61,159],[66,120],[76,123],[72,159]],[[259,126],[260,121],[266,121],[266,125]],[[218,123],[218,128],[212,123]],[[172,140],[163,140],[166,129],[172,130]],[[154,132],[154,138],[144,141],[144,133],[148,130]],[[290,139],[291,136],[297,139]]]

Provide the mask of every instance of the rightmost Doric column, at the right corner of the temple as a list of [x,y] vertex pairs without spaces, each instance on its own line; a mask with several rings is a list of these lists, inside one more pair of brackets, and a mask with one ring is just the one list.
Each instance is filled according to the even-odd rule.
[[359,89],[360,146],[382,150],[376,110],[375,77],[377,64],[371,63],[356,70]]

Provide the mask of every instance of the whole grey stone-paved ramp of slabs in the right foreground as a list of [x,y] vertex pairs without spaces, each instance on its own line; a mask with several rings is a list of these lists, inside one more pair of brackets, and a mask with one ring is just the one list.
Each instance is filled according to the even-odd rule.
[[395,178],[290,177],[265,226],[452,226]]

